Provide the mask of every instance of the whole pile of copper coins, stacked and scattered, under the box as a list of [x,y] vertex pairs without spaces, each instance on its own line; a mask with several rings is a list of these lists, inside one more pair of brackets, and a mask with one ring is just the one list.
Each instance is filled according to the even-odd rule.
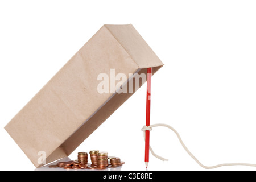
[[[67,162],[59,162],[56,165],[50,165],[50,168],[61,167],[64,169],[98,169],[103,170],[107,167],[118,167],[124,164],[120,158],[108,157],[108,152],[99,152],[98,150],[90,150],[90,159],[92,164],[88,164],[87,152],[78,152],[77,160]],[[108,162],[110,160],[110,163]]]

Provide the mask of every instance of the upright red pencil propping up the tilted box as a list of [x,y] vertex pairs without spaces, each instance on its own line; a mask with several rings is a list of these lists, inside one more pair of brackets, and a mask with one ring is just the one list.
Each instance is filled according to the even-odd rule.
[[[150,97],[151,97],[151,76],[152,76],[152,68],[147,68],[147,106],[146,106],[146,126],[150,126]],[[145,164],[146,168],[149,162],[149,139],[150,139],[150,131],[145,131]]]

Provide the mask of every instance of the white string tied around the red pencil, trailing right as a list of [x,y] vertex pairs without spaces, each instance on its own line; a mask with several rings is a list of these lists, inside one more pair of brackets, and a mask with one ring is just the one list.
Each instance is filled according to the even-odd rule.
[[[143,126],[142,127],[142,131],[144,131],[144,139],[145,139],[145,131],[146,130],[152,130],[152,127],[158,127],[158,126],[164,126],[164,127],[168,127],[168,129],[171,129],[172,131],[174,131],[174,133],[177,135],[177,138],[179,139],[181,145],[183,146],[183,148],[185,149],[185,151],[191,156],[191,158],[193,158],[197,164],[199,164],[201,167],[205,168],[205,169],[213,169],[213,168],[217,168],[217,167],[221,167],[221,166],[253,166],[256,167],[256,164],[249,164],[249,163],[224,163],[224,164],[218,164],[216,166],[204,166],[202,163],[199,162],[199,160],[196,159],[196,157],[188,150],[188,148],[185,146],[185,144],[183,143],[183,141],[180,138],[179,133],[177,133],[177,131],[166,124],[155,124],[155,125],[150,125],[150,126]],[[152,155],[154,155],[156,158],[160,159],[160,160],[168,160],[168,159],[164,159],[159,155],[156,155],[155,152],[152,150],[151,146],[150,146],[150,151],[152,153]]]

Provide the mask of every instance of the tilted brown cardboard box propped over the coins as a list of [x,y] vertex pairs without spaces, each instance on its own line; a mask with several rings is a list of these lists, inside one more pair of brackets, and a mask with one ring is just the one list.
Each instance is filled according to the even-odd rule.
[[131,24],[104,25],[5,129],[35,167],[42,166],[39,151],[45,152],[46,163],[68,156],[133,94],[117,93],[118,88],[99,93],[100,73],[124,73],[125,88],[133,79],[129,73],[152,67],[154,74],[162,66]]

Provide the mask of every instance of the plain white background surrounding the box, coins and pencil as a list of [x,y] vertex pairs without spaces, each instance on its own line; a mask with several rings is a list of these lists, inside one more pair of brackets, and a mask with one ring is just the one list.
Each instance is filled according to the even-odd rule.
[[[256,163],[255,1],[0,1],[0,169],[35,167],[3,127],[103,24],[133,24],[164,67],[151,124],[205,165]],[[98,148],[144,170],[146,84],[70,156]],[[205,170],[155,128],[148,170]],[[15,165],[13,165],[15,162]],[[19,164],[22,164],[19,166]],[[213,170],[255,170],[234,166]]]

